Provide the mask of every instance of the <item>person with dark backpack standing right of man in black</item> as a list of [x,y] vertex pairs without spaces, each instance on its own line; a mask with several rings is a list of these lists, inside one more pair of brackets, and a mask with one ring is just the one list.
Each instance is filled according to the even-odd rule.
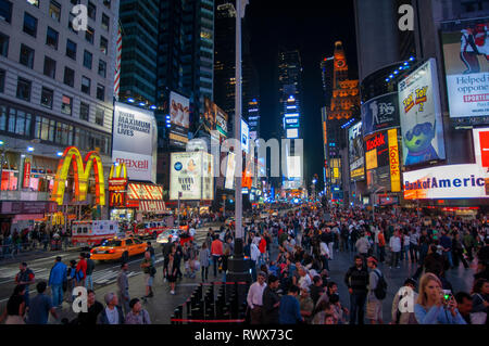
[[377,268],[377,257],[368,257],[367,267],[371,269],[368,274],[368,293],[367,293],[367,319],[371,324],[384,324],[383,321],[383,300],[386,297],[384,291],[385,279],[381,271]]

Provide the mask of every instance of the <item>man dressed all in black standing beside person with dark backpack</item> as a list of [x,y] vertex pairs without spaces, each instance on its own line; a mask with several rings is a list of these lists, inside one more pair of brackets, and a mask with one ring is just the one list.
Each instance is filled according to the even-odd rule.
[[359,324],[363,324],[365,313],[365,300],[367,296],[368,271],[363,265],[363,258],[355,256],[355,265],[348,269],[344,275],[344,283],[350,292],[350,324],[356,323],[356,315],[359,316]]

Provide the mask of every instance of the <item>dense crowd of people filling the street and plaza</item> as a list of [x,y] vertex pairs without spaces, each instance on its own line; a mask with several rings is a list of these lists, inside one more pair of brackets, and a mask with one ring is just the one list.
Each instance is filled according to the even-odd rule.
[[[486,217],[425,218],[410,212],[386,210],[375,218],[363,209],[328,205],[304,206],[283,216],[252,219],[246,225],[244,256],[249,259],[252,284],[247,296],[247,319],[251,324],[487,324],[489,305],[489,226]],[[189,236],[196,225],[190,222]],[[175,295],[181,278],[201,282],[226,281],[228,259],[234,254],[234,225],[209,229],[201,245],[193,241],[170,241],[162,245],[161,278]],[[340,255],[343,253],[342,255]],[[337,267],[337,257],[352,266]],[[0,317],[5,323],[47,323],[54,319],[63,299],[86,286],[88,311],[79,312],[74,324],[149,324],[150,315],[141,303],[153,304],[158,274],[155,248],[148,242],[140,268],[146,295],[131,298],[128,264],[121,265],[116,290],[96,299],[89,254],[68,266],[55,259],[48,282],[38,282],[38,295],[29,299],[34,272],[22,264],[15,290]],[[390,273],[400,264],[413,270],[403,285],[393,287]],[[460,266],[477,266],[469,292],[454,290],[447,273]],[[460,269],[464,270],[464,269]],[[340,274],[337,274],[340,272]],[[348,297],[339,287],[348,289]],[[51,289],[51,296],[46,294]],[[388,290],[390,289],[390,290]],[[397,292],[393,296],[388,292]],[[383,316],[388,306],[390,316]],[[66,321],[65,321],[66,322]]]

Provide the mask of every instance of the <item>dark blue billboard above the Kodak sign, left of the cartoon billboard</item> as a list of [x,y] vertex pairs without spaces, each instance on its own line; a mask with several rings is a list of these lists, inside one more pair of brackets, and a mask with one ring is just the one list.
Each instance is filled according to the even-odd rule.
[[399,126],[398,93],[387,93],[362,104],[363,136]]

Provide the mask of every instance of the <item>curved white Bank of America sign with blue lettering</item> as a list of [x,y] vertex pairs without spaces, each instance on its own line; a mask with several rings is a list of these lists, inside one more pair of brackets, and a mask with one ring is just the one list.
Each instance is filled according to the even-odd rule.
[[489,175],[477,164],[405,171],[403,177],[405,200],[489,197]]

